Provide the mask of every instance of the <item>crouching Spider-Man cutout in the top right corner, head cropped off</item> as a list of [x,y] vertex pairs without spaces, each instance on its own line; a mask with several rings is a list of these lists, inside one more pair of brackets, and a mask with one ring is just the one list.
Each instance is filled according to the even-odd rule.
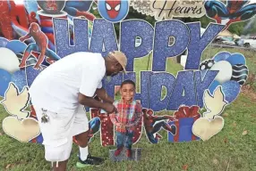
[[[218,23],[226,24],[226,28],[233,22],[248,20],[256,13],[256,4],[247,4],[247,0],[227,1],[226,5],[218,0],[206,1],[204,4],[209,18]],[[247,5],[245,5],[247,4]],[[225,23],[225,21],[227,23]]]

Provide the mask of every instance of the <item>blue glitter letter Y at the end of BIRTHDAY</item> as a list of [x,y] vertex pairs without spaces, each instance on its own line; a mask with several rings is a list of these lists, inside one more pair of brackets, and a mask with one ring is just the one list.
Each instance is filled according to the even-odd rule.
[[218,74],[218,70],[208,70],[203,80],[201,78],[201,71],[196,71],[194,73],[195,78],[195,85],[196,85],[196,92],[197,92],[197,102],[198,105],[202,108],[203,107],[203,94],[206,89],[208,89],[209,85],[212,83],[212,81],[215,79],[215,77]]

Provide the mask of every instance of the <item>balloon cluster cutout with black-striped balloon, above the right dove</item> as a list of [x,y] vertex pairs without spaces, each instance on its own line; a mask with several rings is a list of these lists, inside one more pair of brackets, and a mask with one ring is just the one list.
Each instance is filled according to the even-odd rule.
[[208,69],[219,70],[215,80],[209,85],[209,92],[213,94],[217,86],[221,85],[228,103],[235,101],[249,74],[245,58],[241,53],[218,53],[212,59],[202,61],[200,69],[202,77]]

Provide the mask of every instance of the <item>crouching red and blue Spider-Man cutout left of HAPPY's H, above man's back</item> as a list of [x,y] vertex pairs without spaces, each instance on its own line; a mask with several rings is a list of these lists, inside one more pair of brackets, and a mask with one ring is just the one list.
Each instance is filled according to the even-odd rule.
[[34,66],[34,69],[42,69],[40,64],[44,61],[45,55],[48,57],[47,62],[52,63],[54,61],[58,61],[61,58],[56,55],[52,50],[47,48],[48,39],[47,36],[40,30],[37,23],[33,22],[30,24],[29,33],[20,38],[20,41],[23,42],[24,40],[33,37],[36,43],[32,43],[28,45],[26,48],[20,68],[24,68],[26,66],[26,61],[30,56],[30,53],[33,51],[35,53],[40,53],[38,57],[38,62]]

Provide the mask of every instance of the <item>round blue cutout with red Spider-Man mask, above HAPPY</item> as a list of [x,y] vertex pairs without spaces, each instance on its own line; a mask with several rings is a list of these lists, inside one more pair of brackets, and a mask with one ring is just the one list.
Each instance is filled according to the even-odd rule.
[[128,0],[101,0],[98,1],[98,12],[102,18],[110,22],[124,20],[129,12]]

